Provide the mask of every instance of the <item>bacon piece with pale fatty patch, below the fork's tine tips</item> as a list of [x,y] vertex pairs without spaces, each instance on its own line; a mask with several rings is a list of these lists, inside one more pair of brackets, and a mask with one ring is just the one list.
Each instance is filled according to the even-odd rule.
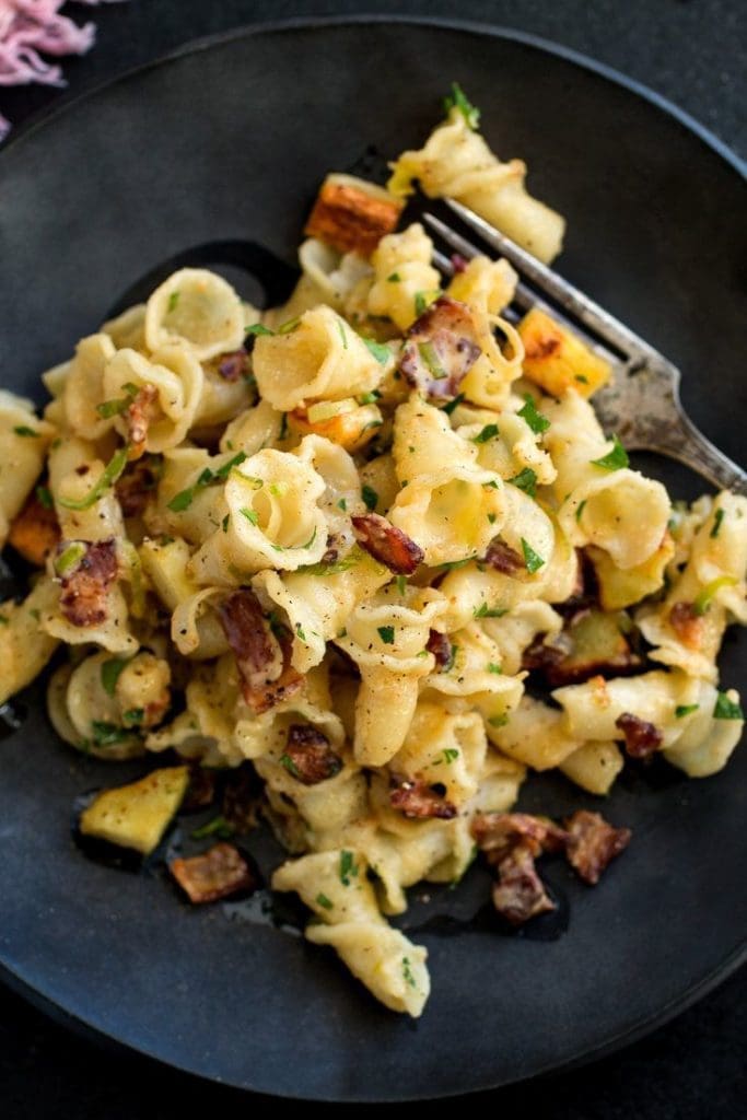
[[430,400],[452,401],[479,355],[471,311],[441,296],[408,329],[400,370]]

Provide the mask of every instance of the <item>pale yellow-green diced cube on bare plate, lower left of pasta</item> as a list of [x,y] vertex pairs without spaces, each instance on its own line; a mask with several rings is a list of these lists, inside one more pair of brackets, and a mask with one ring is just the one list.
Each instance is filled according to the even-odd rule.
[[139,782],[104,790],[81,814],[84,836],[150,855],[189,785],[187,766],[151,771]]

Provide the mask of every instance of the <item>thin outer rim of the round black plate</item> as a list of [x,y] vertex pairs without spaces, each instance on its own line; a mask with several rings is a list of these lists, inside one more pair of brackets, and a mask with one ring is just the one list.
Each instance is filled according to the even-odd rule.
[[[697,137],[698,140],[700,140],[708,149],[723,159],[739,176],[743,184],[747,184],[747,160],[743,159],[729,147],[726,141],[716,136],[715,132],[702,124],[697,118],[692,116],[684,109],[681,109],[665,95],[639,82],[637,78],[633,78],[606,63],[598,62],[582,52],[576,50],[575,48],[568,47],[563,44],[555,43],[551,39],[547,39],[531,31],[520,30],[504,25],[486,24],[479,20],[451,19],[448,17],[385,15],[380,12],[360,12],[353,15],[332,16],[296,16],[278,20],[262,20],[255,24],[242,24],[227,30],[189,39],[187,43],[181,44],[172,50],[165,52],[156,58],[127,67],[114,77],[108,77],[93,82],[90,86],[78,93],[63,94],[62,97],[53,105],[45,106],[32,113],[28,120],[24,121],[17,129],[13,129],[10,137],[0,147],[0,169],[3,167],[4,153],[7,151],[12,151],[13,148],[19,143],[22,143],[25,139],[34,136],[47,125],[53,124],[58,118],[74,111],[80,104],[101,95],[110,87],[129,82],[141,73],[147,73],[150,69],[156,69],[180,58],[197,55],[203,52],[211,50],[214,47],[220,47],[239,39],[251,38],[256,35],[277,34],[286,30],[317,30],[326,27],[334,28],[371,25],[399,25],[402,27],[426,29],[438,28],[442,30],[468,32],[480,38],[517,43],[522,46],[531,47],[540,53],[561,58],[562,60],[569,62],[573,66],[578,66],[597,77],[601,77],[613,85],[635,94],[659,112],[665,114],[670,119],[673,119],[681,128]],[[315,1100],[319,1103],[340,1102],[343,1100],[346,1100],[349,1103],[393,1103],[394,1101],[409,1102],[435,1099],[448,1100],[452,1099],[455,1095],[461,1096],[478,1092],[497,1091],[501,1088],[515,1085],[522,1081],[545,1079],[550,1074],[554,1075],[569,1073],[581,1068],[591,1062],[597,1062],[609,1056],[623,1047],[633,1045],[654,1030],[657,1030],[660,1027],[664,1026],[666,1023],[671,1021],[673,1018],[681,1015],[688,1008],[692,1007],[699,1000],[708,996],[709,992],[716,989],[720,983],[728,980],[728,978],[745,963],[747,963],[747,932],[745,932],[741,940],[737,941],[736,945],[716,968],[702,977],[697,983],[689,987],[682,995],[670,999],[662,1008],[659,1009],[656,1014],[651,1016],[644,1015],[637,1023],[622,1029],[619,1033],[599,1043],[597,1046],[589,1048],[582,1055],[564,1062],[553,1062],[550,1060],[544,1066],[529,1076],[511,1076],[506,1080],[502,1080],[497,1085],[495,1083],[480,1084],[467,1090],[466,1093],[438,1094],[436,1098],[420,1093],[405,1096],[398,1095],[396,1098],[368,1094],[345,1099],[336,1095],[315,1095],[314,1098],[308,1098],[284,1089],[280,1092],[276,1090],[270,1093],[265,1090],[251,1089],[246,1085],[237,1084],[236,1082],[225,1082],[221,1079],[211,1077],[207,1073],[196,1072],[194,1068],[189,1068],[180,1064],[178,1061],[167,1061],[166,1058],[158,1056],[140,1045],[131,1042],[123,1042],[115,1035],[95,1026],[84,1016],[73,1012],[56,1002],[54,999],[50,999],[35,983],[31,983],[16,969],[11,968],[7,961],[1,959],[0,983],[6,984],[12,992],[16,992],[21,998],[26,999],[38,1010],[48,1016],[53,1021],[63,1025],[67,1029],[74,1030],[78,1034],[78,1036],[86,1038],[94,1045],[119,1049],[125,1054],[138,1054],[149,1061],[157,1062],[166,1068],[178,1070],[179,1072],[190,1077],[197,1077],[200,1081],[227,1085],[234,1090],[239,1090],[244,1093],[252,1093],[258,1096],[268,1095],[281,1100]]]

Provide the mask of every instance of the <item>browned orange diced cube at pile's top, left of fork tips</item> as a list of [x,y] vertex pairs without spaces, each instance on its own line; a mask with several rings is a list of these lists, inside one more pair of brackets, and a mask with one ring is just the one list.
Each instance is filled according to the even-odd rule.
[[370,256],[384,234],[396,228],[403,205],[374,183],[333,172],[321,184],[305,233],[340,253]]

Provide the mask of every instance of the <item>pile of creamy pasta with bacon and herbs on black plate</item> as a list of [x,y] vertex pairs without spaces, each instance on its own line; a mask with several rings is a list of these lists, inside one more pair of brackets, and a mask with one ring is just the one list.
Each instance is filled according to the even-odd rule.
[[273,887],[413,1016],[427,951],[386,916],[464,875],[527,771],[603,795],[656,750],[701,777],[743,730],[716,657],[747,501],[673,506],[600,429],[604,361],[504,315],[505,261],[445,281],[395,230],[419,178],[554,255],[562,220],[475,124],[452,99],[389,188],[330,176],[282,308],[181,269],[44,374],[43,419],[0,396],[0,542],[36,567],[0,607],[0,699],[62,645],[73,747],[251,763],[291,852]]

